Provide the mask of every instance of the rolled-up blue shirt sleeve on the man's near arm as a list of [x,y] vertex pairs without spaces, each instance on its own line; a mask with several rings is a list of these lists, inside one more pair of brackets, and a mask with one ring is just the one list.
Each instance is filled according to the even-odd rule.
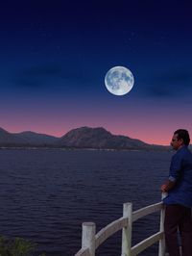
[[169,180],[170,181],[177,181],[180,177],[180,169],[182,165],[182,157],[179,154],[173,156],[169,171]]

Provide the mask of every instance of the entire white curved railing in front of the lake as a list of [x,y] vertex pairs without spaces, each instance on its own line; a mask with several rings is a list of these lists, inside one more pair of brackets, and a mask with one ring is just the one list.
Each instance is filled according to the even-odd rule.
[[[164,195],[162,195],[164,197]],[[160,211],[159,231],[153,236],[132,246],[132,222]],[[95,251],[110,236],[119,230],[122,230],[122,249],[121,256],[134,256],[158,242],[158,256],[165,255],[164,241],[164,207],[162,202],[149,205],[135,212],[132,212],[132,203],[124,203],[123,217],[114,220],[96,234],[96,225],[93,222],[84,222],[82,231],[82,248],[75,256],[95,256]]]

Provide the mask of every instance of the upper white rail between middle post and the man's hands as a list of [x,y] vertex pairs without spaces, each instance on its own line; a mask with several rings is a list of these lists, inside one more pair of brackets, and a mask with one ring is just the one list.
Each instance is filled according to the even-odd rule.
[[146,206],[142,209],[139,209],[132,213],[132,222],[137,220],[138,218],[142,218],[148,215],[151,215],[153,213],[156,213],[157,211],[161,210],[163,208],[163,203],[159,202],[150,206]]

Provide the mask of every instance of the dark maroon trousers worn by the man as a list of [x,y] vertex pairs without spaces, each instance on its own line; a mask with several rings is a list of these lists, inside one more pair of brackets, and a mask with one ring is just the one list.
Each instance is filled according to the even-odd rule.
[[181,239],[182,256],[192,256],[192,215],[191,208],[173,204],[165,207],[165,243],[170,256],[180,256]]

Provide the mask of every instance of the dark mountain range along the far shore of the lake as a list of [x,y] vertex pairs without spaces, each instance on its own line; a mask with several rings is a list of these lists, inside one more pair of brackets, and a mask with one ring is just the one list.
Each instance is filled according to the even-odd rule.
[[60,138],[35,132],[10,133],[0,128],[0,147],[60,147],[94,149],[166,149],[122,135],[112,135],[103,127],[73,129]]

